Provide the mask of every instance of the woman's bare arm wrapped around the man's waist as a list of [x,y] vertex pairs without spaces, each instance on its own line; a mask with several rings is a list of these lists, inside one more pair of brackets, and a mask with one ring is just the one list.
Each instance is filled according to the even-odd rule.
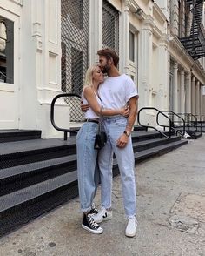
[[129,115],[129,108],[122,107],[121,109],[111,110],[111,109],[102,109],[101,106],[98,104],[96,100],[95,92],[89,87],[86,86],[84,88],[84,98],[87,99],[90,108],[96,113],[97,116],[115,116],[115,115],[122,115],[128,116]]

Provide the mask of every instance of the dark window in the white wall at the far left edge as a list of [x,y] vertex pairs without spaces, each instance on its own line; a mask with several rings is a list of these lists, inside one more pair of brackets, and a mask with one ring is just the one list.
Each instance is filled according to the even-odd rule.
[[14,84],[14,23],[1,16],[0,82]]

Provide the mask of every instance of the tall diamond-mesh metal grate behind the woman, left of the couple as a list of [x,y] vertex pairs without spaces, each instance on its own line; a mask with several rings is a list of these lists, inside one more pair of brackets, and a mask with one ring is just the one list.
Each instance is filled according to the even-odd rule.
[[[89,65],[89,0],[61,0],[62,13],[62,90],[81,94]],[[80,99],[65,101],[70,121],[83,121]]]

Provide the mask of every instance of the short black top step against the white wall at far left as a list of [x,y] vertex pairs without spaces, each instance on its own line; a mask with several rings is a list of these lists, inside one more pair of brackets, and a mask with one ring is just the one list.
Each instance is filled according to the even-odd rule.
[[0,142],[21,141],[41,138],[39,130],[0,130]]

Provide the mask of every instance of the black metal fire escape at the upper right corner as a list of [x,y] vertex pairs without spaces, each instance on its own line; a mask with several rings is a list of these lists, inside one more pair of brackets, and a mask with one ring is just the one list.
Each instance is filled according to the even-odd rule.
[[[205,32],[202,24],[204,0],[185,0],[188,10],[192,13],[192,23],[189,35],[180,38],[181,43],[190,56],[197,60],[205,57]],[[188,25],[186,21],[186,25]]]

